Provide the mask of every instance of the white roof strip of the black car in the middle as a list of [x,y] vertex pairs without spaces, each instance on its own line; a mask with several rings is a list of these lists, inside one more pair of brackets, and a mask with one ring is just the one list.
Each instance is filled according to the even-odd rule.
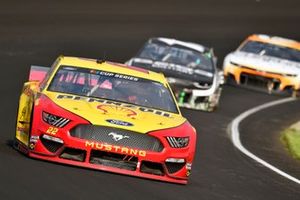
[[208,49],[207,47],[205,47],[203,45],[200,45],[200,44],[197,44],[197,43],[185,42],[185,41],[176,40],[176,39],[173,39],[173,38],[157,37],[157,38],[151,38],[151,39],[152,40],[156,39],[156,40],[164,42],[168,45],[181,45],[181,46],[184,46],[184,47],[187,47],[187,48],[190,48],[190,49],[194,49],[194,50],[199,51],[201,53],[205,52]]

